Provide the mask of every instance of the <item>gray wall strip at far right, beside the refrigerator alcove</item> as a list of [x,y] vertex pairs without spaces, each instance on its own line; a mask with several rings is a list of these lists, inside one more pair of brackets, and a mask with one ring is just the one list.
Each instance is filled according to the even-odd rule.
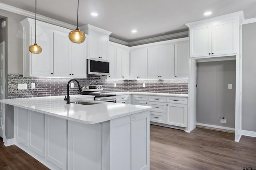
[[242,25],[242,130],[256,131],[256,23]]

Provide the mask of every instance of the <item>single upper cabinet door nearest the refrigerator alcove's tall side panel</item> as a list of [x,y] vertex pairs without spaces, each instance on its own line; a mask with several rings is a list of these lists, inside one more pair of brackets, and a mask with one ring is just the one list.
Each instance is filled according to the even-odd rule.
[[188,78],[189,47],[188,42],[175,45],[175,77]]

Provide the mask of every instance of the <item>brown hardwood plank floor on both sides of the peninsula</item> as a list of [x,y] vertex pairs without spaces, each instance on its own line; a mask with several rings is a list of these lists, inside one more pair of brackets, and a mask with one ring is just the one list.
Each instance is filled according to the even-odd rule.
[[[191,133],[150,125],[150,170],[256,169],[256,138],[196,128]],[[0,170],[48,170],[23,150],[0,138]]]

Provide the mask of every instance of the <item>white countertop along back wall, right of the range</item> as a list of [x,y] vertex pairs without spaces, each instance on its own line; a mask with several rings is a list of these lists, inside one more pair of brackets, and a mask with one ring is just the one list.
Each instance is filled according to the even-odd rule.
[[148,92],[110,92],[105,94],[116,94],[116,95],[125,95],[125,94],[140,94],[140,95],[152,95],[152,96],[173,96],[173,97],[188,97],[188,94],[171,94],[171,93],[148,93]]

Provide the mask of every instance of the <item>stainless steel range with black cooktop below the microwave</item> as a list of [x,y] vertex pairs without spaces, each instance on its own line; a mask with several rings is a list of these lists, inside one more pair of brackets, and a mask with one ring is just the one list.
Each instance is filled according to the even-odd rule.
[[115,102],[116,103],[116,95],[102,93],[102,91],[103,91],[102,85],[81,86],[81,88],[82,88],[81,94],[95,96],[94,100],[96,100],[96,101]]

